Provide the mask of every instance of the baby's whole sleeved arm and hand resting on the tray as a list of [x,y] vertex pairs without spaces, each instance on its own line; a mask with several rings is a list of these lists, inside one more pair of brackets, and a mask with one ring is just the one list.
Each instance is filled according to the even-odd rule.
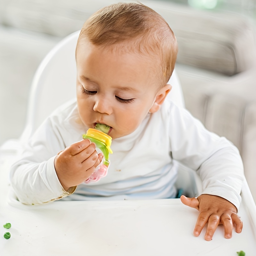
[[225,138],[207,131],[186,110],[174,106],[172,118],[172,156],[196,170],[203,185],[202,195],[197,199],[181,198],[184,204],[200,212],[194,234],[198,236],[207,221],[206,240],[212,239],[219,223],[224,225],[227,238],[231,237],[233,223],[236,231],[241,232],[242,222],[236,212],[241,202],[244,173],[238,149]]

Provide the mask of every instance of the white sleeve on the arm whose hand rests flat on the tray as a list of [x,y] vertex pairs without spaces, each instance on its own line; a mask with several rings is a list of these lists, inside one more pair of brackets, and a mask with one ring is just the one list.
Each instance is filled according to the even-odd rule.
[[209,132],[187,110],[173,105],[169,134],[173,159],[198,172],[202,194],[221,196],[238,209],[244,168],[238,149],[226,138]]

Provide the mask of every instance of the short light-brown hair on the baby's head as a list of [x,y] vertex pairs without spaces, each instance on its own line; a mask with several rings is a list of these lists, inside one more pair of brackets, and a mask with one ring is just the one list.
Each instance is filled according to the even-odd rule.
[[176,38],[164,18],[148,6],[119,3],[104,7],[85,21],[77,45],[82,39],[97,46],[132,41],[132,49],[159,57],[161,83],[165,85],[172,75],[178,52]]

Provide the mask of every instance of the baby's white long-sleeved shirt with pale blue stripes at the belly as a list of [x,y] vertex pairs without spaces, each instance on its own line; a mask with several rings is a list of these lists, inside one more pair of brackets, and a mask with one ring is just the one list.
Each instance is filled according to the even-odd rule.
[[66,196],[67,200],[172,198],[178,171],[173,160],[177,160],[198,172],[202,194],[221,196],[239,208],[244,173],[237,148],[170,100],[148,114],[134,132],[112,141],[106,177],[65,191],[54,158],[81,140],[87,129],[75,100],[44,121],[11,169],[12,187],[20,202],[42,204]]

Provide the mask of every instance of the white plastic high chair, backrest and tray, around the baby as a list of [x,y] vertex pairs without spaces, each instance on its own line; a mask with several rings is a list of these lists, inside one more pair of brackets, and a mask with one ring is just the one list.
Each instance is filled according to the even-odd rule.
[[[26,128],[20,138],[26,141],[55,108],[76,97],[75,48],[79,31],[63,39],[45,57],[36,71],[28,103]],[[174,71],[168,95],[184,107],[181,87]],[[9,158],[11,162],[11,157]],[[8,169],[10,162],[4,161]],[[0,161],[1,164],[1,161]],[[44,205],[23,205],[14,193],[7,198],[7,172],[0,172],[0,222],[11,222],[11,239],[1,241],[0,254],[26,255],[246,255],[256,251],[256,207],[244,180],[239,215],[242,234],[233,232],[230,240],[218,228],[212,242],[204,235],[194,237],[198,213],[179,199],[138,201],[57,201]],[[190,196],[201,191],[196,172],[181,168],[176,183]],[[8,204],[6,204],[8,202]],[[6,230],[1,229],[2,233]],[[205,228],[203,233],[205,232]],[[1,232],[0,232],[1,235]],[[186,246],[178,246],[180,239]],[[170,246],[170,241],[173,245]],[[27,246],[27,243],[30,246]],[[61,244],[61,246],[60,246]],[[192,254],[191,254],[192,252]],[[193,252],[195,252],[193,254]]]

